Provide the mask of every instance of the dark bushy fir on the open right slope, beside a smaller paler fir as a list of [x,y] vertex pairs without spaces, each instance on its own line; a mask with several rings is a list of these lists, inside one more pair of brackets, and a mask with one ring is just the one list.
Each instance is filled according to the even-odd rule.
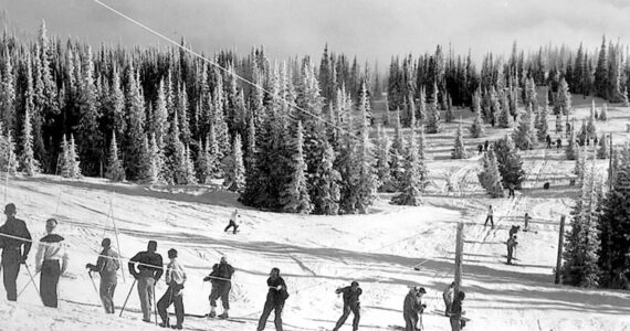
[[510,186],[512,184],[515,189],[521,189],[521,183],[525,180],[525,171],[523,170],[523,160],[521,160],[512,138],[506,135],[498,139],[494,143],[494,151],[503,185]]

